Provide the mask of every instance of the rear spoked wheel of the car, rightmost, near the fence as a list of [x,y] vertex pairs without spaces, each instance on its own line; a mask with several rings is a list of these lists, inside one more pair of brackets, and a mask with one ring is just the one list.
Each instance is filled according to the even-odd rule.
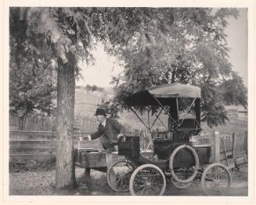
[[228,168],[219,163],[209,165],[201,178],[201,186],[208,196],[228,195],[231,182],[232,178]]

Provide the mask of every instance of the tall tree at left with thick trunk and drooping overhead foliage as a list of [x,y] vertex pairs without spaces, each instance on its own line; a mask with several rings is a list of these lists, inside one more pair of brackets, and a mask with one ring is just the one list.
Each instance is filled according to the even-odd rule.
[[[156,15],[155,10],[75,7],[11,9],[10,24],[14,25],[11,28],[18,29],[23,35],[22,39],[16,36],[19,39],[19,45],[25,44],[33,51],[34,56],[42,59],[42,62],[52,60],[58,65],[57,136],[59,136],[59,140],[57,148],[61,146],[63,139],[67,140],[67,143],[62,150],[57,149],[57,189],[74,188],[75,181],[73,158],[70,157],[73,151],[73,147],[70,147],[70,144],[73,144],[70,129],[74,125],[74,106],[71,108],[67,108],[67,106],[74,104],[73,69],[75,68],[77,74],[79,73],[77,48],[81,48],[78,55],[81,54],[83,58],[88,59],[92,57],[90,47],[93,45],[94,38],[96,41],[104,41],[106,44],[110,42],[112,48],[121,48],[136,32],[140,32],[144,23],[149,22],[150,16]],[[14,16],[15,18],[13,18]],[[20,27],[21,23],[23,23],[22,28]],[[22,49],[19,49],[18,53],[20,51]],[[18,67],[20,68],[20,66]],[[67,72],[68,68],[70,68],[70,72]],[[67,85],[67,81],[63,82],[63,79],[70,83],[70,87],[67,86],[67,89],[61,87],[65,83]],[[65,136],[68,139],[65,139]],[[62,154],[65,154],[65,157],[61,156]],[[65,167],[62,166],[63,164]]]

